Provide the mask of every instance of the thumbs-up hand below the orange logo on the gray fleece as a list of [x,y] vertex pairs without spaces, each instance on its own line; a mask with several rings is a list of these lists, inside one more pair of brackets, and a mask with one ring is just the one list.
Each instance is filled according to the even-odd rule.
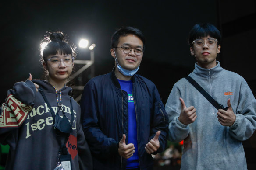
[[223,126],[231,126],[235,122],[235,114],[231,107],[230,99],[228,99],[228,110],[225,111],[223,109],[219,109],[217,112],[217,118],[221,125]]

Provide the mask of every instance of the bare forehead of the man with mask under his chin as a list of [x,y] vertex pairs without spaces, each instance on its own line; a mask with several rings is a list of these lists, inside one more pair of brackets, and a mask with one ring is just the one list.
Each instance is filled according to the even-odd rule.
[[118,45],[132,45],[143,47],[143,42],[136,35],[128,34],[126,36],[120,36]]

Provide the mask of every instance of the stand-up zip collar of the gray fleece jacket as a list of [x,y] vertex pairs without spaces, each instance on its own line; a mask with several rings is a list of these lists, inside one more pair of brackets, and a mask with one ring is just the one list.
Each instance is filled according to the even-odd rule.
[[204,69],[196,63],[193,73],[200,77],[208,77],[209,75],[215,76],[223,70],[223,68],[220,67],[220,62],[216,61],[216,63],[217,65],[211,69]]

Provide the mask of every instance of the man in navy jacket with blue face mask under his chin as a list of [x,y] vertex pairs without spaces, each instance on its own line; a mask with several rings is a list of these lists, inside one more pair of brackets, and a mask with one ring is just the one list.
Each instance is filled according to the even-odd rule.
[[95,170],[153,170],[151,154],[167,145],[168,116],[156,86],[135,74],[144,49],[140,30],[117,30],[110,50],[113,71],[85,85],[82,125]]

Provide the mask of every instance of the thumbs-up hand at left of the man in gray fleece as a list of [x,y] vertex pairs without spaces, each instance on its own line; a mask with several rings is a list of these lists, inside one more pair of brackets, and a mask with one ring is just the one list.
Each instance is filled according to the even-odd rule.
[[180,101],[181,101],[181,114],[178,117],[178,120],[184,125],[193,123],[197,118],[196,109],[194,108],[194,106],[190,106],[187,108],[185,105],[185,102],[181,97],[180,97]]

